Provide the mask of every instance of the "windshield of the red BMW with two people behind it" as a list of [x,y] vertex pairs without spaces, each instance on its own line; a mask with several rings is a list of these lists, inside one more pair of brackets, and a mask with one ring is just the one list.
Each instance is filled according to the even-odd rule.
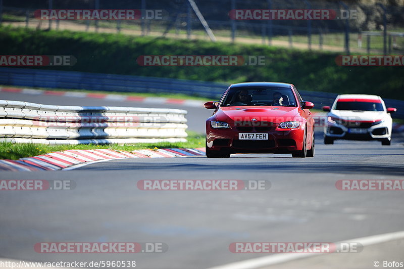
[[296,100],[288,87],[234,87],[221,106],[296,106]]

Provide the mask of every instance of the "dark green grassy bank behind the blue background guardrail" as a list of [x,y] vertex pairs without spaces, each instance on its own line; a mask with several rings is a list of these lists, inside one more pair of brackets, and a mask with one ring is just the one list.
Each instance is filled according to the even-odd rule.
[[[402,67],[340,67],[340,53],[300,51],[261,44],[179,40],[72,31],[36,31],[0,27],[5,55],[74,55],[76,65],[66,71],[153,76],[237,83],[291,82],[298,89],[340,94],[375,94],[404,100]],[[265,56],[264,66],[140,66],[141,55]],[[43,67],[59,69],[61,67]]]

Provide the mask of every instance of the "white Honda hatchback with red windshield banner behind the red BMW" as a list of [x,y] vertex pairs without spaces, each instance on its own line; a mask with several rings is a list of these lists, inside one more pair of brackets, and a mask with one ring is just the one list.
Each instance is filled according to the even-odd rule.
[[392,119],[397,109],[386,108],[376,95],[339,95],[327,111],[324,124],[324,144],[334,140],[378,140],[390,145]]

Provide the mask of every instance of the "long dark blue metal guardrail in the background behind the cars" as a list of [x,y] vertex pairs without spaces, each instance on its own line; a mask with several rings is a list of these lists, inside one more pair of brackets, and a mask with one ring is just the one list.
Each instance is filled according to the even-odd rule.
[[[286,82],[286,81],[285,81]],[[0,84],[89,89],[95,91],[176,93],[219,99],[229,86],[224,83],[183,80],[174,78],[142,77],[130,75],[86,73],[76,71],[0,68]],[[299,90],[305,100],[315,104],[315,108],[332,105],[338,94]],[[354,94],[354,93],[352,93]],[[397,108],[395,118],[404,118],[404,101],[383,99],[387,107]]]

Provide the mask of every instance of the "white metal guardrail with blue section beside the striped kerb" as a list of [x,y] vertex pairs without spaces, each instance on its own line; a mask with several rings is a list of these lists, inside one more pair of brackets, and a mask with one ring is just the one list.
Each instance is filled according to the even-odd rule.
[[186,113],[0,100],[0,138],[41,144],[185,142]]

